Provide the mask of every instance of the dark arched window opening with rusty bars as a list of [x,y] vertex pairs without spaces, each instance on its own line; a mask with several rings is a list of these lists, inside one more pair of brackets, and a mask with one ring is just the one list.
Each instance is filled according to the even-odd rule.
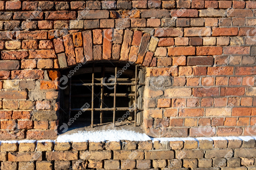
[[[144,70],[145,72],[145,70]],[[62,73],[62,121],[73,127],[139,126],[142,123],[143,69],[132,63],[87,63]],[[71,75],[70,75],[71,74]],[[61,117],[61,116],[60,116]]]

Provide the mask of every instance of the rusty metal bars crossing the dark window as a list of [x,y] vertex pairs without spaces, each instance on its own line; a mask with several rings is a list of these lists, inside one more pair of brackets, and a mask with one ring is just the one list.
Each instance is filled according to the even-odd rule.
[[[138,85],[144,86],[145,83],[139,83],[138,82],[138,66],[135,66],[135,78],[117,78],[117,65],[115,66],[115,78],[109,78],[109,80],[114,81],[114,83],[104,83],[103,79],[105,77],[105,66],[101,66],[101,78],[95,78],[94,77],[94,63],[92,64],[92,80],[90,83],[73,83],[72,79],[70,77],[69,79],[69,104],[68,104],[68,119],[70,119],[71,111],[80,111],[81,108],[71,108],[71,97],[90,97],[92,96],[92,103],[91,103],[91,108],[86,108],[84,111],[91,111],[91,127],[93,128],[93,116],[94,116],[94,111],[100,111],[100,123],[103,122],[103,112],[104,111],[113,111],[113,127],[115,127],[115,119],[116,119],[116,111],[129,111],[130,113],[134,111],[134,126],[136,126],[136,120],[137,120],[137,111],[143,111],[142,108],[138,108],[138,103],[137,103],[137,97],[138,97]],[[127,82],[127,80],[132,80],[134,83],[124,83]],[[100,83],[95,83],[96,81],[100,81]],[[87,80],[88,81],[88,80]],[[131,85],[134,86],[135,93],[116,93],[117,86],[120,85]],[[83,94],[83,95],[72,95],[71,94],[71,89],[74,86],[91,86],[92,87],[92,93],[90,94]],[[94,86],[100,86],[100,94],[97,96],[100,96],[100,108],[95,108],[94,107],[94,97],[96,96],[94,93]],[[114,86],[114,93],[104,93],[104,87],[105,86]],[[104,96],[113,96],[114,101],[113,101],[113,107],[108,108],[105,107],[103,108],[103,103],[104,103]],[[133,107],[116,107],[116,97],[119,96],[132,96],[133,97]]]

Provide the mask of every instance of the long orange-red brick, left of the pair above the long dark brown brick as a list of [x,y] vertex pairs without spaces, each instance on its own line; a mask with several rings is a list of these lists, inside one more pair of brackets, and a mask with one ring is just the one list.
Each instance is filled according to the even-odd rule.
[[195,47],[170,47],[168,56],[195,55]]

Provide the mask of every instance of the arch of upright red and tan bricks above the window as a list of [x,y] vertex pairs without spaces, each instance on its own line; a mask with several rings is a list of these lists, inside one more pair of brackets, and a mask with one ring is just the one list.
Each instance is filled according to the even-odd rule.
[[95,29],[53,39],[60,69],[85,61],[129,61],[155,67],[158,38],[138,30]]

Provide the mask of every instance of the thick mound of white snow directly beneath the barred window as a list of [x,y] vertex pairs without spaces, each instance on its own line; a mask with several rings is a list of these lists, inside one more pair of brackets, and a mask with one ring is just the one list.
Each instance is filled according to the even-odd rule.
[[119,140],[148,141],[151,138],[145,133],[137,133],[131,130],[97,130],[60,135],[57,137],[56,142],[103,142]]

